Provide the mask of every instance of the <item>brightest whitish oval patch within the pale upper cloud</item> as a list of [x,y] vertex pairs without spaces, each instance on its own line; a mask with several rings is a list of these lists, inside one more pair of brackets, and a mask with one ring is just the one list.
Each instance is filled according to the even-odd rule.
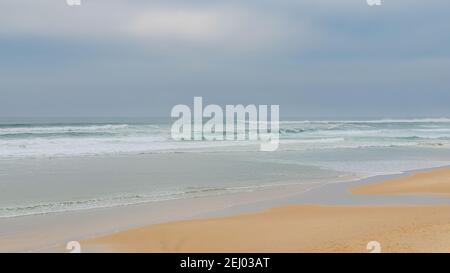
[[219,48],[273,47],[286,42],[287,22],[236,7],[151,9],[134,16],[127,32],[154,41],[191,42]]

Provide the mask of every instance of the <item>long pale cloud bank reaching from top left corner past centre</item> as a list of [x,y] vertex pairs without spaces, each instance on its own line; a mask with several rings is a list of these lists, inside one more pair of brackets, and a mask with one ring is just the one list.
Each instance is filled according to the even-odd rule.
[[1,33],[53,39],[129,39],[146,46],[185,43],[222,50],[273,48],[290,44],[298,35],[303,36],[305,45],[310,40],[305,27],[293,28],[287,18],[272,15],[270,10],[234,1],[202,5],[83,1],[80,7],[51,0],[1,2]]

